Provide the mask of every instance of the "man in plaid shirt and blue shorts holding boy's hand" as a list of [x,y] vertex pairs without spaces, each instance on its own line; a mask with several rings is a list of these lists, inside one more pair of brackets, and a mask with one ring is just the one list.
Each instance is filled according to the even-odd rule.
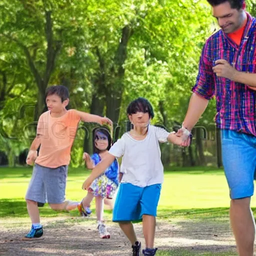
[[253,255],[255,224],[250,209],[256,167],[256,19],[243,0],[207,0],[220,30],[202,49],[199,72],[183,127],[183,146],[208,100],[215,95],[222,159],[230,190],[230,222],[240,256]]

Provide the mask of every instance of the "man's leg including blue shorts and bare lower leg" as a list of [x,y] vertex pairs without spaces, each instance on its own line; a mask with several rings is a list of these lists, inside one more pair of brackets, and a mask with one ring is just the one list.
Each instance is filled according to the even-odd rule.
[[252,256],[255,225],[250,209],[254,190],[256,137],[221,130],[222,161],[230,190],[230,223],[239,256]]

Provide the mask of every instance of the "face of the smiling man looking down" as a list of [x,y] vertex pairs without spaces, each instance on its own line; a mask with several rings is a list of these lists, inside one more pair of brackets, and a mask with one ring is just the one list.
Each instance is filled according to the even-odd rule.
[[232,33],[240,28],[244,21],[244,10],[233,9],[228,1],[212,6],[212,15],[225,33]]

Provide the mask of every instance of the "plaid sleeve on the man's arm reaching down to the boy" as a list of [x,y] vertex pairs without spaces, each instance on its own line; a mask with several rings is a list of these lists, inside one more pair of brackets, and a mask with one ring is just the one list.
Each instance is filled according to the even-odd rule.
[[208,42],[206,41],[202,49],[196,83],[192,91],[206,99],[211,99],[214,96],[215,86],[212,61],[207,58],[208,48]]

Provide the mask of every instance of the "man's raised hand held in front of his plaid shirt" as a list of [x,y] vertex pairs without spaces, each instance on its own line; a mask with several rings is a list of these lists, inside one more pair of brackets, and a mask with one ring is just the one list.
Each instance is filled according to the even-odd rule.
[[226,60],[218,59],[215,61],[215,66],[212,67],[214,73],[217,76],[234,80],[236,73],[238,72],[233,66],[231,66]]

